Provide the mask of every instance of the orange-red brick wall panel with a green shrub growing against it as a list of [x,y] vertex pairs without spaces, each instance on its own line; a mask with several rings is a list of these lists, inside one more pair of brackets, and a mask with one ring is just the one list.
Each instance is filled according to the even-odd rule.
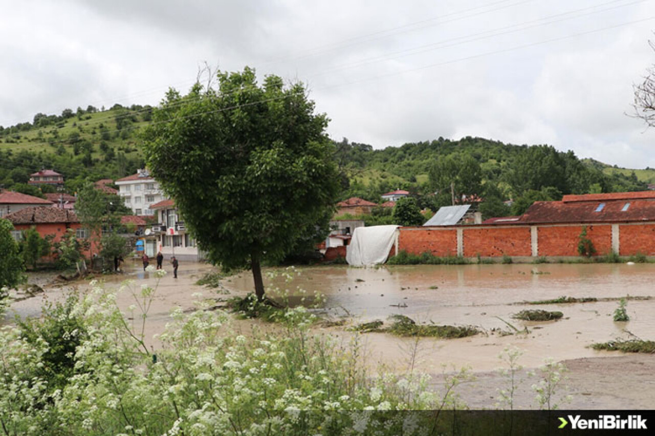
[[[538,228],[538,251],[540,256],[579,256],[578,242],[582,225]],[[587,238],[596,249],[596,254],[605,255],[612,251],[612,226],[588,225]]]

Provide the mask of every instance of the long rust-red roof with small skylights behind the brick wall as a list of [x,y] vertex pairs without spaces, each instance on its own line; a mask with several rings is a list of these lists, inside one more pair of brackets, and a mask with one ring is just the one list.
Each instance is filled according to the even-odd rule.
[[[629,203],[626,210],[626,204]],[[603,208],[596,211],[601,204]],[[517,223],[625,223],[655,221],[655,201],[535,202]]]

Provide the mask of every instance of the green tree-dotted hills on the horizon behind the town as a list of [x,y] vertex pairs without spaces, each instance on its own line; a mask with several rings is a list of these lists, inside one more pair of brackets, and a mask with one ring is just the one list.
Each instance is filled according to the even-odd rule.
[[[29,174],[41,168],[64,174],[68,192],[79,190],[86,180],[132,174],[143,167],[138,135],[151,114],[149,106],[88,106],[65,109],[61,115],[38,113],[31,122],[0,126],[0,185],[38,194],[26,183]],[[476,194],[489,203],[512,198],[520,205],[568,193],[637,191],[655,181],[650,168],[627,170],[545,145],[509,145],[477,137],[440,137],[381,150],[347,139],[336,145],[343,198],[379,201],[384,192],[400,188],[432,209],[451,203],[451,184],[457,196]]]

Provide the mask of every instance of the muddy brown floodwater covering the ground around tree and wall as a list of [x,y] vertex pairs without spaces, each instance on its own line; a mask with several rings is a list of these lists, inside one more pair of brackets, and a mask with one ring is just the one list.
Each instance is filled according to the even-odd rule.
[[[194,293],[217,299],[229,297],[195,285],[198,278],[211,270],[207,264],[183,263],[177,280],[172,274],[164,277],[149,314],[147,333],[159,333],[170,320],[168,313],[174,306],[193,310]],[[655,357],[589,348],[594,342],[616,338],[655,339],[655,264],[318,266],[299,267],[297,271],[299,274],[291,282],[282,276],[265,276],[265,285],[269,289],[288,290],[291,304],[298,304],[303,296],[314,292],[324,295],[320,314],[328,319],[345,319],[346,325],[316,327],[316,333],[321,335],[347,342],[357,335],[348,331],[348,326],[374,319],[387,323],[393,314],[409,316],[419,323],[474,325],[480,329],[479,335],[451,340],[417,341],[386,333],[358,336],[367,364],[372,367],[382,364],[391,371],[405,371],[413,366],[417,371],[432,374],[440,374],[444,364],[450,369],[470,367],[482,380],[481,385],[471,384],[468,388],[466,397],[473,407],[491,406],[489,401],[494,394],[489,390],[495,388],[490,386],[500,383],[493,370],[502,366],[498,354],[509,346],[522,350],[519,363],[527,368],[538,367],[546,358],[565,361],[577,383],[577,388],[572,388],[575,395],[571,407],[655,408]],[[106,285],[118,286],[125,279],[134,280],[135,287],[155,284],[154,276],[134,264],[121,276],[108,276]],[[227,278],[223,283],[231,295],[242,296],[253,289],[250,272]],[[77,287],[84,289],[85,285],[77,283]],[[47,287],[46,295],[57,298],[65,289]],[[599,301],[527,304],[562,296],[595,297]],[[627,296],[641,299],[628,300],[630,321],[614,322],[612,313],[618,307],[618,299]],[[16,302],[12,308],[20,316],[38,316],[42,302],[43,296],[37,296]],[[132,302],[128,295],[119,297],[122,307]],[[557,310],[564,316],[548,322],[512,318],[523,309]],[[236,326],[246,331],[252,323],[239,321]],[[529,405],[529,390],[522,395]]]

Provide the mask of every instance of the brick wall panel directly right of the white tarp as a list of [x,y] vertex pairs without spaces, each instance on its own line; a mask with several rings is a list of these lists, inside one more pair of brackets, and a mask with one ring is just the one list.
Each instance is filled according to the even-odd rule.
[[[435,256],[457,255],[457,230],[454,228],[400,228],[398,251],[421,254],[429,251]],[[393,252],[393,251],[392,251]]]

